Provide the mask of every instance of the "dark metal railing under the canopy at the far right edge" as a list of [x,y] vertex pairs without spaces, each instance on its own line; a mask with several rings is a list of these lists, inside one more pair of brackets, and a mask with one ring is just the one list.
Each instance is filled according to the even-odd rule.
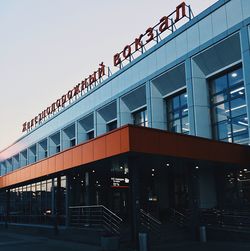
[[218,209],[201,210],[201,222],[207,226],[250,230],[250,213]]

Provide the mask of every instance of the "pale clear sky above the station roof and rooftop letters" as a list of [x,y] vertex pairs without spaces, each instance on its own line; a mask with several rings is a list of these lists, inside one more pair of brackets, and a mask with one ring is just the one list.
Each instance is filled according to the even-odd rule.
[[[0,0],[0,150],[182,0]],[[195,15],[216,0],[187,0]]]

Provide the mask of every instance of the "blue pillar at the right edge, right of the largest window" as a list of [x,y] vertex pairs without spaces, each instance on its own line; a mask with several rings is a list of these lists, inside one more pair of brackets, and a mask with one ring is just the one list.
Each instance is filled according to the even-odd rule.
[[[240,30],[240,44],[241,44],[241,57],[243,64],[243,77],[245,85],[245,95],[247,104],[247,117],[248,117],[248,137],[250,138],[250,43],[249,43],[249,29],[244,26]],[[248,139],[248,143],[250,143]]]

